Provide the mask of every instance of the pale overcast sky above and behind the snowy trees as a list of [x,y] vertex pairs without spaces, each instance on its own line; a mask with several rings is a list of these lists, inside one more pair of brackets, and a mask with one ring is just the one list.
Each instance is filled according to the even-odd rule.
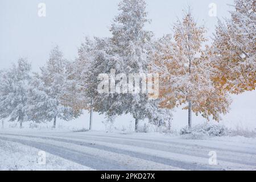
[[[38,16],[38,4],[46,4],[46,17]],[[8,68],[19,57],[27,57],[34,71],[46,63],[49,51],[56,44],[60,46],[67,59],[77,55],[85,36],[109,36],[109,26],[118,14],[119,0],[0,0],[0,69]],[[152,23],[147,29],[154,31],[156,37],[171,33],[172,23],[181,18],[182,10],[188,5],[199,24],[208,28],[208,36],[214,32],[218,18],[229,17],[228,10],[233,0],[147,0],[148,18]],[[217,17],[209,16],[209,5],[217,5]],[[224,117],[233,126],[256,127],[256,92],[233,96],[230,114]],[[174,113],[175,114],[175,113]],[[101,123],[101,118],[96,117]],[[86,120],[86,118],[84,118]],[[123,119],[122,122],[131,121]],[[193,122],[201,122],[194,117]],[[120,122],[121,123],[121,122]],[[187,111],[178,110],[174,125],[187,123]],[[234,124],[235,123],[235,124]],[[122,123],[120,124],[122,125]]]

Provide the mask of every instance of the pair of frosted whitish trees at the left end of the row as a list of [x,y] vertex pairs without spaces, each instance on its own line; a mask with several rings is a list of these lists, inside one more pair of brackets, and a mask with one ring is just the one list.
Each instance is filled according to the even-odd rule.
[[67,78],[68,61],[59,49],[52,50],[40,73],[31,73],[31,64],[19,59],[18,64],[1,71],[0,117],[18,121],[46,122],[56,118],[70,120],[80,115],[61,101]]

